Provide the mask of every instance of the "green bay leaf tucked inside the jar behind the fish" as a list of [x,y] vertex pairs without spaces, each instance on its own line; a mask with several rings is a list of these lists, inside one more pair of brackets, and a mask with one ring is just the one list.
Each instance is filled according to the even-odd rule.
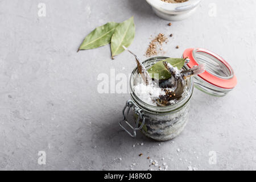
[[185,59],[182,58],[168,58],[166,60],[158,61],[158,63],[152,65],[152,67],[147,70],[148,73],[152,74],[152,78],[154,78],[154,74],[158,74],[159,80],[171,77],[171,73],[167,71],[166,67],[164,67],[163,61],[167,61],[173,67],[177,67],[177,69],[181,69],[185,64]]

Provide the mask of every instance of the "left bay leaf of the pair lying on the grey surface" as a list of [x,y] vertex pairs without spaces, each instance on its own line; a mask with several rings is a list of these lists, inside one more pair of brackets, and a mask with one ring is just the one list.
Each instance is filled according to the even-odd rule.
[[109,22],[103,26],[95,28],[89,35],[87,35],[82,42],[79,50],[94,49],[97,47],[105,46],[109,44],[114,33],[115,27],[119,23]]

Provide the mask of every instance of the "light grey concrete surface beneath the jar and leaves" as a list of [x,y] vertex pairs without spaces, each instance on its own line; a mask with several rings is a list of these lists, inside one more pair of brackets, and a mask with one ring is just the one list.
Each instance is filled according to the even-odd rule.
[[[38,16],[39,3],[45,3],[46,17]],[[216,16],[209,16],[210,3]],[[1,0],[0,169],[158,169],[149,167],[150,156],[168,170],[255,170],[255,7],[253,0],[205,0],[191,18],[169,27],[143,0]],[[172,33],[165,56],[207,48],[237,75],[236,88],[225,97],[195,90],[188,125],[169,142],[142,134],[130,138],[118,126],[129,94],[97,92],[98,74],[134,69],[129,53],[112,60],[109,46],[76,52],[95,27],[132,15],[136,35],[130,49],[142,59],[151,35]],[[45,165],[38,164],[39,151],[46,152]],[[216,164],[209,163],[210,151]]]

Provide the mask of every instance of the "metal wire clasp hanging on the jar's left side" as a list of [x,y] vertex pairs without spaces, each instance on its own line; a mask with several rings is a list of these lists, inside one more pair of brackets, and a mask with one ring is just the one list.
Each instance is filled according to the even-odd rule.
[[[129,114],[130,109],[133,109],[135,114],[138,115],[138,119],[135,123],[135,127],[131,126],[130,123],[127,122],[127,115]],[[125,112],[125,110],[127,110]],[[142,123],[139,126],[139,121],[142,119]],[[131,133],[130,131],[128,131],[125,126],[123,126],[122,122],[125,122],[132,130],[133,133]],[[131,100],[126,102],[125,107],[123,107],[123,120],[119,121],[119,125],[123,128],[123,130],[125,130],[131,137],[136,137],[136,130],[141,130],[143,125],[145,123],[145,117],[144,117],[144,113],[142,113],[142,109],[139,109],[139,107],[137,105],[135,105],[135,103]]]

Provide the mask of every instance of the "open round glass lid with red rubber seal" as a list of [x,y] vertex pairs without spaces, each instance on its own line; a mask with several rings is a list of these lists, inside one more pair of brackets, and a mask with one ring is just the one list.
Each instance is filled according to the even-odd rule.
[[225,96],[236,86],[237,78],[232,67],[216,53],[203,48],[188,48],[184,51],[183,57],[190,59],[187,68],[205,63],[205,72],[194,77],[195,87],[203,92]]

